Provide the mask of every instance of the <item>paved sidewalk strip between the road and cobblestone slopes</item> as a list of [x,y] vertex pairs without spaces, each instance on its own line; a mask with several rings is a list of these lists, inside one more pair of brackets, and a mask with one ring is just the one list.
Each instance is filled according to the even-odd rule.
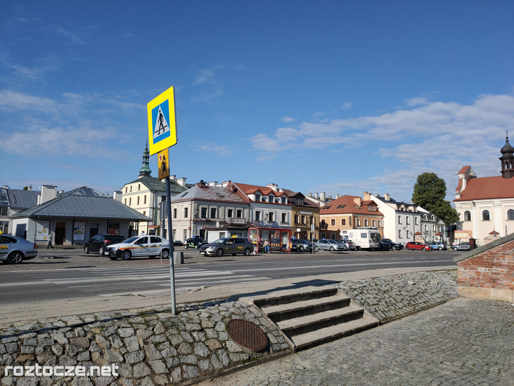
[[[263,282],[212,286],[203,289],[192,290],[189,292],[176,293],[176,308],[177,311],[179,311],[180,304],[203,303],[215,299],[226,299],[232,296],[245,297],[249,296],[250,294],[259,295],[283,289],[301,288],[311,285],[330,285],[332,283],[342,282],[344,280],[391,276],[417,271],[446,271],[449,269],[452,268],[448,266],[387,268],[357,272],[334,273],[328,275],[265,280]],[[80,315],[121,309],[137,309],[163,304],[169,304],[171,307],[171,293],[170,295],[154,296],[97,296],[61,302],[47,302],[34,305],[24,305],[22,308],[20,306],[0,306],[0,327],[5,326],[6,324],[14,324],[15,326],[19,326],[26,324],[27,321],[43,318],[64,317],[67,315]]]

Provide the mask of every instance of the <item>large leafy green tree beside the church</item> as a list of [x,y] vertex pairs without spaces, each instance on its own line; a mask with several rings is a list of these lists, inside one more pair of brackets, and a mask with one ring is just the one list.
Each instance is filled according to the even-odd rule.
[[414,184],[412,202],[442,219],[448,225],[460,218],[450,201],[445,200],[446,182],[435,173],[419,174]]

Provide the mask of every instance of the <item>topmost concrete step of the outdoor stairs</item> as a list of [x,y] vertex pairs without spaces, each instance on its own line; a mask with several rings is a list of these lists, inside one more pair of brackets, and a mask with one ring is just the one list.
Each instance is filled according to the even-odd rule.
[[301,302],[310,299],[321,299],[323,297],[333,296],[337,294],[337,288],[334,287],[304,287],[296,290],[282,290],[272,292],[267,295],[253,297],[252,301],[258,307],[278,306],[281,304],[289,304]]

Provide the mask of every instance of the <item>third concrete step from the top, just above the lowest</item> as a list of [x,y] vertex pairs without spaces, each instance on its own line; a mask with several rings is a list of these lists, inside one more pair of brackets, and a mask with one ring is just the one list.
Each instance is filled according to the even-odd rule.
[[307,334],[308,332],[331,327],[336,324],[348,323],[362,318],[363,314],[364,310],[361,307],[352,304],[344,308],[284,320],[278,322],[277,325],[294,341],[297,335]]

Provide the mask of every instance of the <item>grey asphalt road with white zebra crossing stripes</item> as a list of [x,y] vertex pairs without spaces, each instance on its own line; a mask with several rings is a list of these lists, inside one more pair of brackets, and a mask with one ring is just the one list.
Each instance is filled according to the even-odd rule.
[[[258,256],[204,257],[184,253],[175,266],[177,292],[202,286],[255,282],[283,277],[352,272],[393,267],[449,266],[456,268],[454,251],[359,251],[315,254],[270,253]],[[120,294],[159,294],[170,290],[169,260],[146,257],[112,261],[81,249],[40,250],[20,265],[0,264],[3,305],[74,300]]]

